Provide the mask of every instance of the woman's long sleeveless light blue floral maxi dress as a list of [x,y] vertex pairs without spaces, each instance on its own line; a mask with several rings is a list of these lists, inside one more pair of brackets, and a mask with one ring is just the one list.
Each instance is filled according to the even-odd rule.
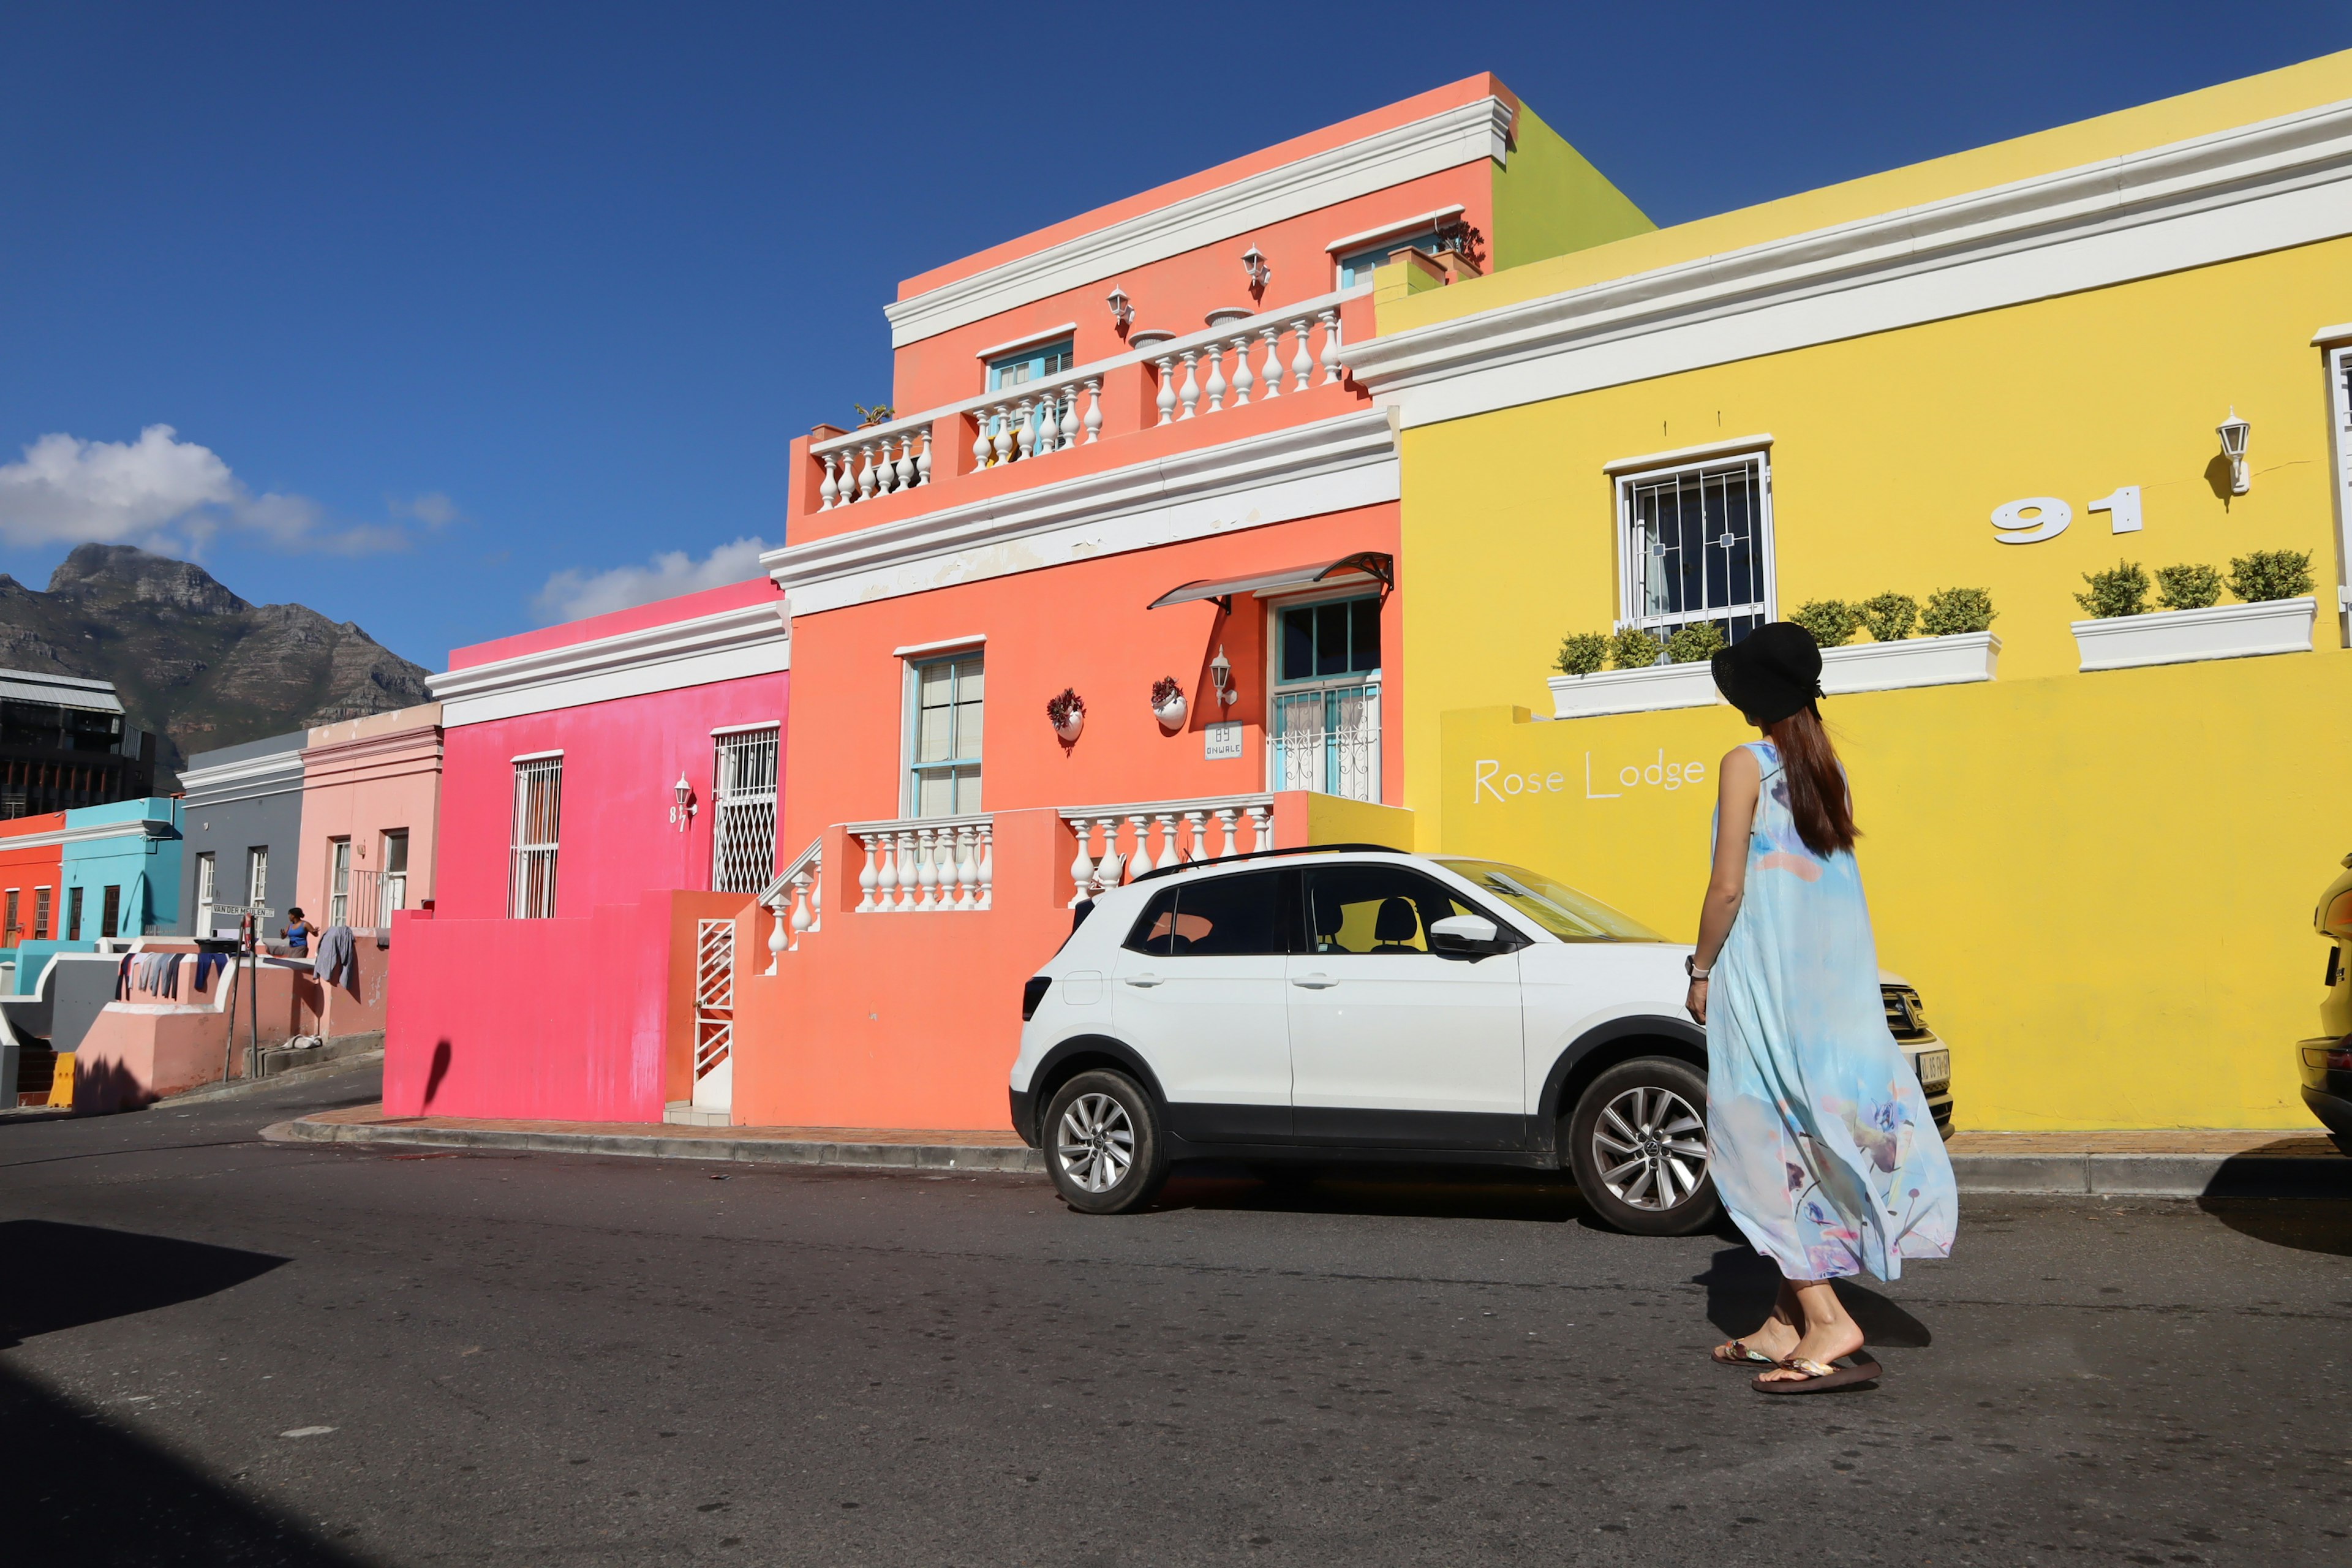
[[1708,985],[1708,1166],[1788,1279],[1896,1279],[1952,1253],[1952,1161],[1886,1032],[1860,867],[1806,849],[1778,750],[1748,750],[1764,788]]

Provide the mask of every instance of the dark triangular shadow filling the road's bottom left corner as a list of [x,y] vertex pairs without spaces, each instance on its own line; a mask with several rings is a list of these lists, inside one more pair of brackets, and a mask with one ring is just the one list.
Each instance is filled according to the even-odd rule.
[[5,1366],[0,1476],[7,1476],[12,1563],[355,1568],[362,1561]]

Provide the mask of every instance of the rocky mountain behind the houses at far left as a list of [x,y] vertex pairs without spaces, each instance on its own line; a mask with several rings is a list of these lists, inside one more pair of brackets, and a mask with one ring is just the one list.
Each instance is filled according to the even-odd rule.
[[0,668],[111,679],[158,731],[158,790],[188,752],[430,701],[426,668],[350,621],[247,604],[193,562],[78,545],[38,592],[0,574]]

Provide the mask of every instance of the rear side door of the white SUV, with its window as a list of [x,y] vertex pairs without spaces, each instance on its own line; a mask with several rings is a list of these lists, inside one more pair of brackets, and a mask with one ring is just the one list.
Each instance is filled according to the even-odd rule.
[[1284,872],[1185,879],[1152,898],[1110,973],[1112,1032],[1138,1048],[1178,1138],[1284,1143]]

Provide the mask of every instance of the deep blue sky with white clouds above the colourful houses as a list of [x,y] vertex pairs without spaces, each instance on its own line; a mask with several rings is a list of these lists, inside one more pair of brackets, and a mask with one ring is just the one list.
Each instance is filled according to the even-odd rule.
[[14,5],[0,569],[195,550],[442,668],[748,574],[898,277],[1475,71],[1672,223],[2343,47],[2340,0]]

